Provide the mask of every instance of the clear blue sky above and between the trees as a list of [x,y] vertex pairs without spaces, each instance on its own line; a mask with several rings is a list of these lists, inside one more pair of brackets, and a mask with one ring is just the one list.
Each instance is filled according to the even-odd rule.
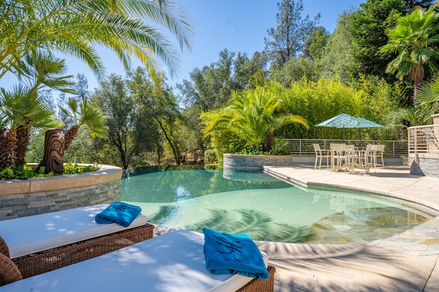
[[[267,29],[276,27],[277,4],[281,0],[175,0],[182,4],[191,16],[195,37],[191,55],[182,54],[182,68],[176,78],[169,76],[169,85],[175,87],[183,79],[189,79],[193,68],[202,68],[216,62],[219,52],[247,53],[249,57],[256,51],[263,51],[263,39]],[[337,18],[344,10],[359,8],[366,0],[302,0],[304,16],[313,18],[320,13],[320,23],[333,32]],[[125,76],[119,59],[106,49],[101,54],[107,73]],[[88,89],[97,88],[98,83],[91,70],[78,59],[66,57],[69,74],[83,73],[88,79]],[[133,60],[134,68],[140,63]],[[0,79],[0,87],[10,88],[16,81],[11,76]],[[57,94],[54,94],[56,97]]]

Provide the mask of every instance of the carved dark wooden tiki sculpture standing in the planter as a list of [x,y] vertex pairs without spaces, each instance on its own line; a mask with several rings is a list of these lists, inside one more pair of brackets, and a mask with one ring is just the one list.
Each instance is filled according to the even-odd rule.
[[45,173],[53,171],[54,174],[62,174],[64,163],[64,131],[51,129],[46,132],[44,141],[43,166]]

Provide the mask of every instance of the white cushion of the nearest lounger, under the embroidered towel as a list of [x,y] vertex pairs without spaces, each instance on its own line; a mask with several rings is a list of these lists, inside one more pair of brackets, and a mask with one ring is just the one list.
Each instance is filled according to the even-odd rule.
[[[178,230],[0,287],[0,291],[229,292],[252,278],[206,270],[204,235]],[[265,265],[268,256],[263,254]]]

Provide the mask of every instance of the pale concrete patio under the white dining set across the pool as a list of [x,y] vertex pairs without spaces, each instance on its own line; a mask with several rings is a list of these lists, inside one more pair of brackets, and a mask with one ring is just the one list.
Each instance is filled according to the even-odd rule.
[[410,167],[372,168],[370,174],[314,170],[309,165],[264,166],[264,172],[283,181],[313,189],[342,189],[401,200],[412,207],[439,215],[439,178],[410,174]]

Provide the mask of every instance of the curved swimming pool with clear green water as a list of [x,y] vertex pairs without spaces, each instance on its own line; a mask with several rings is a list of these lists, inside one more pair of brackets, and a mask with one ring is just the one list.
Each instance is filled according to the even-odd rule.
[[139,205],[150,222],[175,229],[206,227],[291,243],[368,243],[434,217],[379,196],[305,189],[263,173],[137,172],[122,180],[121,200]]

